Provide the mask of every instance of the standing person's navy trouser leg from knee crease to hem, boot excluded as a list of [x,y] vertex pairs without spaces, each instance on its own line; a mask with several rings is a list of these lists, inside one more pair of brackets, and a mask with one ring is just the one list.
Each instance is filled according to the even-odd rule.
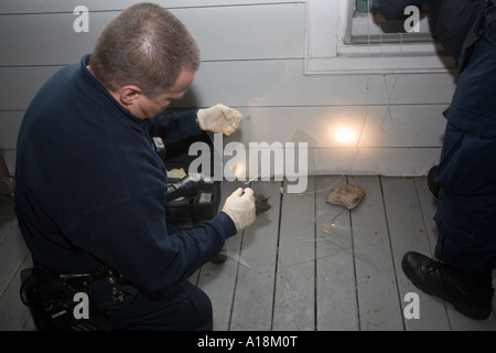
[[496,268],[496,139],[448,124],[435,182],[435,257],[474,274]]

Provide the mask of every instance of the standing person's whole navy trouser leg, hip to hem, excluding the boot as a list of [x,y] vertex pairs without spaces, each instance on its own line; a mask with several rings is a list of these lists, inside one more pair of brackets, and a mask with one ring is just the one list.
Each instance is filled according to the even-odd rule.
[[496,268],[496,9],[459,76],[435,182],[435,257],[468,272]]

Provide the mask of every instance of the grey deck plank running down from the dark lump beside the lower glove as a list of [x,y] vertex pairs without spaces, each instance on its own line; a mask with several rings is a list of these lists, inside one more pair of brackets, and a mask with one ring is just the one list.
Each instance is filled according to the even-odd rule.
[[230,330],[270,331],[278,254],[281,182],[255,182],[250,186],[266,195],[271,208],[257,216],[242,236]]

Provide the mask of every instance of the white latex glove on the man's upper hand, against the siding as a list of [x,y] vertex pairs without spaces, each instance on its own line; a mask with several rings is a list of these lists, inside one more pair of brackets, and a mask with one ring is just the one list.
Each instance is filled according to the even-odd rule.
[[241,114],[225,105],[217,104],[211,108],[198,109],[196,114],[202,130],[231,135],[241,126]]

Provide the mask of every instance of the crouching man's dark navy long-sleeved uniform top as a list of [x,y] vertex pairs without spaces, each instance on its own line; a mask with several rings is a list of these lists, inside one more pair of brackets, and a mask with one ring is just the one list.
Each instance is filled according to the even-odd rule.
[[211,260],[236,234],[230,217],[168,233],[166,171],[151,138],[200,133],[195,111],[140,120],[87,69],[89,55],[48,79],[18,139],[15,208],[33,260],[63,272],[105,264],[162,290]]

